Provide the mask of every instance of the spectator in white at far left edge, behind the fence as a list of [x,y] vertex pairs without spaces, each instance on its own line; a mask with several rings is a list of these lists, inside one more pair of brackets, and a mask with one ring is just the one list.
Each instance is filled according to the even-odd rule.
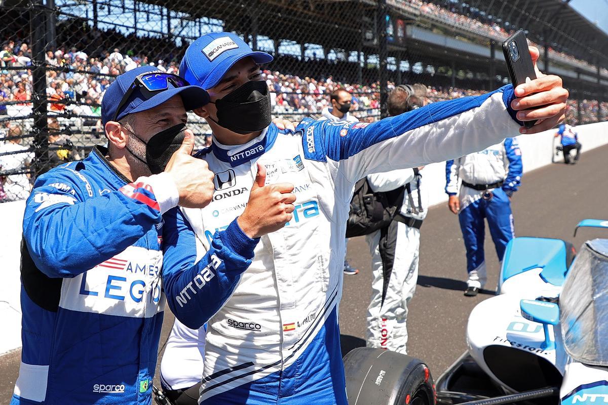
[[[0,145],[0,154],[10,153],[10,155],[0,156],[0,171],[24,171],[32,162],[34,154],[29,152],[29,148],[21,146],[22,135],[23,129],[20,125],[9,125],[7,141],[4,145]],[[0,178],[4,189],[2,202],[25,200],[30,195],[32,185],[29,182],[29,174],[10,174]]]

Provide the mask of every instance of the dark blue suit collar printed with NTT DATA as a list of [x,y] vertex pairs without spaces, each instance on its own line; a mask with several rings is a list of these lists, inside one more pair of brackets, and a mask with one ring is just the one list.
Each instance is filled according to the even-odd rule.
[[222,162],[230,163],[235,168],[250,160],[260,157],[269,151],[277,140],[278,128],[271,123],[262,133],[243,145],[223,145],[215,137],[211,144],[213,155]]

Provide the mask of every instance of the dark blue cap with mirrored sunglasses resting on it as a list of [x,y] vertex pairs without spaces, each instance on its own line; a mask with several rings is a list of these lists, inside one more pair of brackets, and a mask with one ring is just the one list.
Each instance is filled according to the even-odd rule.
[[[135,81],[135,78],[142,73],[158,72],[165,73],[156,69],[154,66],[140,66],[129,70],[116,77],[116,80],[108,86],[102,100],[102,123],[105,125],[108,121],[114,120],[116,109],[119,108],[120,101],[130,89]],[[188,82],[189,83],[189,82]],[[127,114],[146,111],[151,108],[160,106],[165,101],[169,100],[174,95],[181,95],[186,111],[191,111],[198,107],[209,103],[209,94],[199,86],[184,86],[175,87],[171,81],[168,82],[167,90],[159,90],[151,98],[145,98],[139,89],[135,89],[126,104],[120,108],[116,115],[116,121],[125,117]]]

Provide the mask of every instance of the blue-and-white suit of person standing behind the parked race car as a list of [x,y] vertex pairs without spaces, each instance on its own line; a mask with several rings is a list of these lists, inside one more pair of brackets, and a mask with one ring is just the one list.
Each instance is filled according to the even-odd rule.
[[[446,162],[446,193],[460,194],[458,221],[466,248],[468,286],[483,288],[486,283],[486,262],[483,251],[485,223],[488,226],[499,260],[505,254],[506,244],[514,237],[513,214],[509,197],[517,191],[522,178],[522,153],[517,138],[506,138],[489,148]],[[488,188],[491,199],[483,199],[484,190],[461,185],[502,185]]]

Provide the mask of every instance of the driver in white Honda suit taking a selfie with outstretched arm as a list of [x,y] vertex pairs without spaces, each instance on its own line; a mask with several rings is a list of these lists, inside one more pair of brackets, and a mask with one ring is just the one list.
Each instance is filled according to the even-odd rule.
[[[536,60],[537,50],[531,53]],[[208,323],[199,403],[346,405],[337,306],[354,183],[553,128],[568,92],[559,77],[537,72],[539,79],[516,90],[505,86],[376,123],[305,119],[294,132],[282,131],[271,123],[260,77],[259,65],[271,60],[237,35],[216,32],[190,44],[180,67],[210,95],[194,111],[209,123],[212,146],[196,156],[216,173],[216,194],[205,208],[184,210],[199,239],[213,243],[215,230],[246,206],[260,165],[266,183],[292,183],[297,196],[293,219],[261,238],[243,282]],[[536,118],[542,121],[534,128],[522,127]]]

